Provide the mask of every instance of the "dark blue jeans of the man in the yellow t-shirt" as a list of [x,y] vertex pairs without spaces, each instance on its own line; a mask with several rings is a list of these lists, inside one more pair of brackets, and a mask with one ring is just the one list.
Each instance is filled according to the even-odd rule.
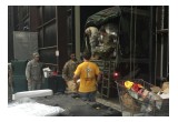
[[91,101],[91,102],[96,101],[96,93],[97,93],[96,91],[93,91],[93,92],[86,92],[86,93],[79,92],[80,98],[82,100],[85,100],[85,101]]

